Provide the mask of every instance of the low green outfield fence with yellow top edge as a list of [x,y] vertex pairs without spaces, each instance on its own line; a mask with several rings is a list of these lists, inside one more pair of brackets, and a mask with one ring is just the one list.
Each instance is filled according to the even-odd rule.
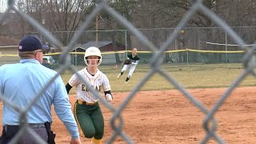
[[[0,46],[1,49],[2,46]],[[102,65],[121,65],[122,62],[126,59],[126,54],[130,53],[130,50],[122,51],[108,51],[102,52]],[[245,54],[245,50],[167,50],[162,53],[161,59],[162,64],[171,63],[171,64],[184,64],[188,66],[193,65],[194,63],[200,64],[219,64],[219,63],[241,63],[242,57]],[[17,50],[15,48],[15,52]],[[58,53],[48,53],[46,56],[51,56],[56,62],[56,65],[59,63],[59,56],[62,54]],[[83,57],[85,52],[69,52],[70,62],[73,66],[86,66]],[[151,57],[154,54],[154,51],[138,51],[140,56],[140,63],[149,63],[152,59]],[[116,56],[118,55],[118,61]],[[14,63],[18,62],[18,54],[0,54],[0,66],[5,63]],[[59,65],[58,65],[59,67]]]

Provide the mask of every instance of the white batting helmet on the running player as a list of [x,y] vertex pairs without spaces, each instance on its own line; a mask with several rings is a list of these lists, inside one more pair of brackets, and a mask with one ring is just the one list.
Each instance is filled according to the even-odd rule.
[[98,49],[98,47],[91,46],[86,50],[86,54],[85,54],[85,57],[84,57],[84,60],[85,60],[87,66],[89,66],[89,63],[87,61],[87,57],[89,57],[91,55],[98,56],[98,64],[96,64],[96,66],[98,66],[102,63],[101,51]]

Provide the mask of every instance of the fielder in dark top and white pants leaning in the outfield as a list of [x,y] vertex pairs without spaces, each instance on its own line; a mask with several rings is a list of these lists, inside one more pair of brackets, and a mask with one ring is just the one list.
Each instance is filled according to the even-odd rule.
[[140,59],[137,54],[137,48],[133,48],[132,53],[127,54],[127,57],[131,60],[131,62],[125,63],[124,66],[122,67],[121,73],[118,74],[118,78],[120,78],[122,76],[122,74],[130,67],[129,73],[126,77],[126,83],[129,81],[131,76],[134,74],[134,70],[135,70],[136,66],[138,65],[138,61]]

